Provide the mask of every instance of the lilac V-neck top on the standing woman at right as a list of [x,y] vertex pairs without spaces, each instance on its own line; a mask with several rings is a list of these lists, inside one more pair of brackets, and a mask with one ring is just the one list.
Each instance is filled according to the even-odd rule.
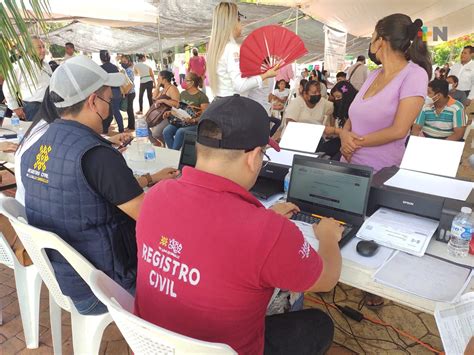
[[[360,136],[390,127],[400,100],[412,96],[424,98],[428,91],[428,74],[419,65],[409,62],[380,92],[364,99],[367,89],[381,70],[369,74],[349,108],[352,132]],[[384,145],[360,148],[352,156],[351,163],[368,165],[375,172],[385,167],[399,166],[405,153],[405,141],[406,137]]]

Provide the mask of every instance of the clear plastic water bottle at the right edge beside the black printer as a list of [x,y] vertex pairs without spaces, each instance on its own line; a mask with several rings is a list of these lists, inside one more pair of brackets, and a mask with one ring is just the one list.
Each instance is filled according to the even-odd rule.
[[466,257],[469,251],[469,242],[474,232],[474,223],[471,218],[472,210],[469,207],[461,208],[451,225],[451,239],[448,242],[448,254],[455,257]]

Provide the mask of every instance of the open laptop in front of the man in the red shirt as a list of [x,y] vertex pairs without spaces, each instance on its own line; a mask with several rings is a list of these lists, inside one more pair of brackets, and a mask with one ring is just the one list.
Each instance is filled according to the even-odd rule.
[[287,201],[301,212],[292,219],[311,224],[320,217],[340,221],[343,247],[364,223],[372,173],[367,166],[295,155]]

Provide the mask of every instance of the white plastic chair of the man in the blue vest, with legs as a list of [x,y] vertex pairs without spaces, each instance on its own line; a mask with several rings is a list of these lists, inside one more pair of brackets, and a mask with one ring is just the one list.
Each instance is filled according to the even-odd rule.
[[[86,265],[90,269],[94,269],[94,267],[56,234],[28,225],[24,207],[18,201],[13,198],[5,198],[0,202],[2,213],[10,219],[13,228],[49,289],[49,312],[54,353],[62,353],[62,308],[71,313],[74,353],[98,354],[102,334],[107,325],[112,322],[112,318],[108,313],[84,316],[77,312],[72,300],[61,292],[45,249],[57,250],[68,261],[74,261],[74,264],[71,263],[73,267],[75,265]],[[84,277],[83,273],[79,272],[79,274]]]

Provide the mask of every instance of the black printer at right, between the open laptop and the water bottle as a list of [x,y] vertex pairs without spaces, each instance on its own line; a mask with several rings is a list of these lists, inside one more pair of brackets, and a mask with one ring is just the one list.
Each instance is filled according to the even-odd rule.
[[[436,240],[448,242],[453,218],[461,208],[474,206],[474,193],[466,201],[429,195],[416,191],[386,186],[384,183],[398,172],[397,167],[384,168],[372,178],[367,215],[371,216],[380,207],[415,214],[439,221]],[[442,188],[442,187],[440,187]]]

